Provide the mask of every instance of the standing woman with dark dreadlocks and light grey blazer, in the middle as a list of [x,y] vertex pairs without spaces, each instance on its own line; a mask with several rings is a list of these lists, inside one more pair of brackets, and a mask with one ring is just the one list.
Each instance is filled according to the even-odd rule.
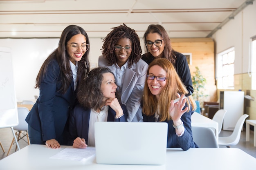
[[114,73],[121,87],[121,102],[128,110],[128,121],[143,121],[140,102],[148,64],[141,60],[139,37],[126,24],[112,29],[103,40],[98,64],[108,66]]

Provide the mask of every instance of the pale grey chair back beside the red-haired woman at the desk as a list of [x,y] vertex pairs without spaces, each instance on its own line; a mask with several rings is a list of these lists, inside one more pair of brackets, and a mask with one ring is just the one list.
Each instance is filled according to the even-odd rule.
[[219,148],[215,133],[211,128],[192,126],[193,141],[199,148]]

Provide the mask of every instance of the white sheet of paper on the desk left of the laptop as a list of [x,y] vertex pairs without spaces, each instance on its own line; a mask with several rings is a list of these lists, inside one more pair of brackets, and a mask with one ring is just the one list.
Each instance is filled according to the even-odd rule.
[[50,157],[51,159],[66,159],[66,160],[85,160],[95,155],[94,147],[87,147],[85,149],[79,148],[65,148],[56,155]]

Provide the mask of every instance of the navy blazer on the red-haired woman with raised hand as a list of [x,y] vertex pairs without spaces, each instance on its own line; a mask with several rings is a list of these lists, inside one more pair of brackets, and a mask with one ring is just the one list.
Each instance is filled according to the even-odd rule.
[[[185,105],[186,107],[187,105]],[[186,112],[182,115],[181,120],[183,121],[185,132],[184,135],[178,137],[175,132],[175,128],[173,128],[173,120],[166,120],[168,124],[168,134],[167,134],[167,148],[182,148],[183,150],[188,150],[189,148],[198,148],[198,146],[194,143],[192,137],[192,129],[191,129],[191,115],[194,111]],[[155,121],[155,115],[153,116],[146,116],[143,115],[143,120],[145,121]]]

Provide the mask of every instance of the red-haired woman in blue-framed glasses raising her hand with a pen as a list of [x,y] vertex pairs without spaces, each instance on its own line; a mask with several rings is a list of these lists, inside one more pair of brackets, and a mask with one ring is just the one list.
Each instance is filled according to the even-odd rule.
[[[196,104],[188,93],[175,68],[165,58],[156,59],[148,66],[142,99],[143,121],[168,124],[167,148],[198,147],[193,142],[191,115]],[[177,103],[174,99],[180,97]]]

